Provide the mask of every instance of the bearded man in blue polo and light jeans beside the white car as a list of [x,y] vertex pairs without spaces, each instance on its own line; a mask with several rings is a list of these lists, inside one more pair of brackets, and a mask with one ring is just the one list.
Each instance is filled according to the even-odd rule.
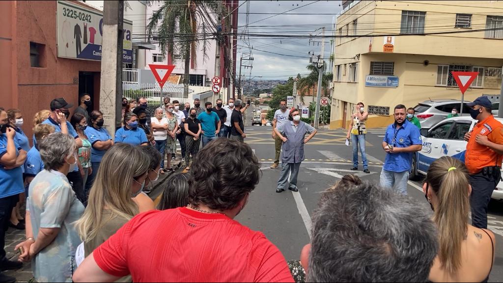
[[381,186],[407,194],[407,180],[412,167],[412,154],[423,149],[419,129],[407,119],[404,105],[394,110],[395,123],[388,126],[382,141],[386,159],[381,172]]

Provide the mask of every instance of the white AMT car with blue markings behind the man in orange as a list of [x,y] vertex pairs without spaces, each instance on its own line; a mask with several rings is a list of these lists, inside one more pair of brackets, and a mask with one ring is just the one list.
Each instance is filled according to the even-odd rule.
[[[503,123],[501,118],[496,120]],[[476,120],[462,116],[441,121],[431,129],[422,129],[423,149],[414,155],[411,179],[417,179],[418,174],[426,175],[430,164],[442,156],[451,156],[464,162],[467,144],[464,136],[476,123]],[[503,200],[503,182],[498,183],[492,198]]]

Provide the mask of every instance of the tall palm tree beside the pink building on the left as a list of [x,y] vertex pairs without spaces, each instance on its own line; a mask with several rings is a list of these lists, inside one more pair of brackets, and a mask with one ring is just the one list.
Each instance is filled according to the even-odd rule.
[[[190,60],[196,62],[197,48],[202,45],[204,60],[208,40],[214,39],[217,28],[212,16],[222,10],[220,1],[147,1],[148,5],[161,3],[159,10],[150,17],[146,26],[148,38],[157,34],[163,56],[180,54],[185,60],[184,95],[189,93]],[[213,35],[213,36],[211,36]]]

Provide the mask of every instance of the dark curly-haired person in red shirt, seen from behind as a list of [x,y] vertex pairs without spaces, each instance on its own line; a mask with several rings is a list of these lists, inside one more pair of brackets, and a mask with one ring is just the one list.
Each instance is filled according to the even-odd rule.
[[233,220],[259,182],[251,148],[217,139],[192,166],[187,207],[136,216],[81,263],[73,280],[131,274],[134,282],[294,282],[278,248]]

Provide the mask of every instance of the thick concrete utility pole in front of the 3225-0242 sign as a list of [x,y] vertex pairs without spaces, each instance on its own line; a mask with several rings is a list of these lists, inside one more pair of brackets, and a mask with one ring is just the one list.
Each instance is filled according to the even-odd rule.
[[103,7],[103,43],[101,57],[100,111],[105,129],[114,137],[121,126],[122,41],[124,1],[105,1]]

